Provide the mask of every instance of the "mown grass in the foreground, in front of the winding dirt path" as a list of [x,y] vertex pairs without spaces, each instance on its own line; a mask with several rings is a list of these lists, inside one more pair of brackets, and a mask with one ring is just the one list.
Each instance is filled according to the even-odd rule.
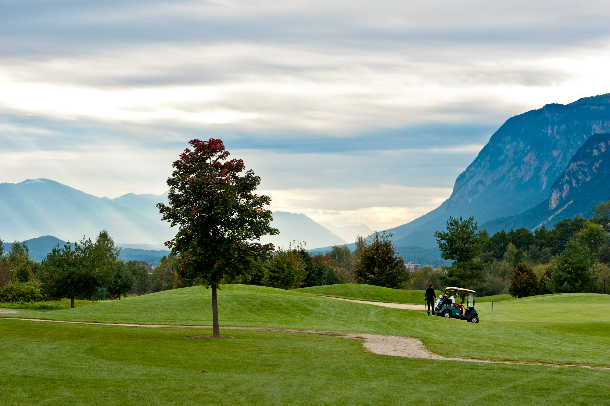
[[608,402],[609,371],[390,357],[357,340],[298,333],[221,329],[234,338],[184,338],[202,333],[210,331],[1,319],[0,404]]

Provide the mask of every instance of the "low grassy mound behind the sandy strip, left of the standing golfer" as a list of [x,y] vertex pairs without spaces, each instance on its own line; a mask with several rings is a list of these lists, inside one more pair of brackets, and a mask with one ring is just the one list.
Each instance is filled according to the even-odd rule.
[[[340,283],[338,285],[312,286],[293,289],[297,292],[318,294],[320,296],[342,297],[359,301],[374,301],[386,303],[423,304],[423,290],[390,289],[380,286],[364,285],[364,283]],[[436,296],[439,295],[436,291]]]

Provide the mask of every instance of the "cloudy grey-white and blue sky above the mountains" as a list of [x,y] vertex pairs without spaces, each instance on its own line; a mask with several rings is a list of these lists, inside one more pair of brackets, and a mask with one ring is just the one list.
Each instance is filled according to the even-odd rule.
[[608,92],[607,1],[0,0],[0,182],[167,190],[220,138],[271,210],[382,230],[511,116]]

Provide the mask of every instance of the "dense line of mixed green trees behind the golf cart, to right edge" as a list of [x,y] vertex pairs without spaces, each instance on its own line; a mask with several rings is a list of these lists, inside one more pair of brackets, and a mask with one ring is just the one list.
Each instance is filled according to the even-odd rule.
[[453,263],[426,276],[416,272],[417,280],[434,277],[440,286],[472,288],[481,296],[601,293],[610,274],[610,201],[589,219],[562,219],[550,230],[522,227],[490,236],[472,217],[450,218],[447,231],[435,237],[442,257]]

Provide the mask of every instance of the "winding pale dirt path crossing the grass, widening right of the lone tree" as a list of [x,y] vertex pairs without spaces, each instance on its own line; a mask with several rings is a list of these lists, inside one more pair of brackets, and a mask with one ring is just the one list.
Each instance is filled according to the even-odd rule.
[[[22,319],[22,318],[0,318],[7,320],[24,320],[24,321],[48,321],[57,323],[70,324],[97,324],[101,326],[124,326],[124,327],[179,327],[191,329],[211,329],[212,326],[176,326],[173,324],[122,324],[122,323],[96,323],[88,321],[62,321],[62,320],[46,320],[46,319]],[[298,329],[265,329],[259,327],[220,327],[226,330],[257,330],[257,331],[277,331],[286,333],[304,333],[304,334],[320,334],[332,335],[333,337],[355,338],[362,340],[362,346],[370,352],[379,355],[392,355],[394,357],[407,358],[426,358],[429,360],[447,360],[447,361],[466,361],[466,362],[483,362],[493,364],[512,364],[512,365],[545,365],[545,366],[572,366],[575,368],[590,368],[590,369],[610,369],[606,367],[586,366],[586,365],[557,365],[544,363],[525,363],[525,362],[509,362],[509,361],[489,361],[489,360],[473,360],[470,358],[451,358],[443,357],[442,355],[433,354],[428,351],[422,341],[412,337],[400,337],[395,335],[376,335],[376,334],[357,334],[357,333],[336,333],[318,330],[298,330]]]

